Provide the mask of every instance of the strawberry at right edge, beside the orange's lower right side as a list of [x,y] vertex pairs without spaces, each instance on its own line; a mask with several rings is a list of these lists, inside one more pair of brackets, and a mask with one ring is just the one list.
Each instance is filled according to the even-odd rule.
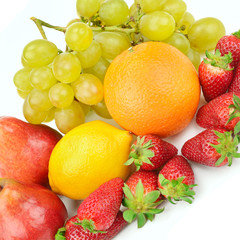
[[[240,92],[235,94],[240,97]],[[240,111],[239,98],[233,96],[233,93],[225,93],[200,107],[196,116],[197,124],[203,128],[233,130],[235,125],[240,121],[240,118],[234,112],[234,109],[238,112]],[[236,118],[227,124],[230,115]]]

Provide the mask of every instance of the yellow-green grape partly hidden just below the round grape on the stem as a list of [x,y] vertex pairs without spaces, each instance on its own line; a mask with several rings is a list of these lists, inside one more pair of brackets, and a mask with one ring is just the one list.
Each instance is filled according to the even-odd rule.
[[90,68],[99,61],[100,57],[102,56],[102,48],[100,43],[93,40],[91,45],[85,51],[76,53],[77,57],[80,59],[82,67]]

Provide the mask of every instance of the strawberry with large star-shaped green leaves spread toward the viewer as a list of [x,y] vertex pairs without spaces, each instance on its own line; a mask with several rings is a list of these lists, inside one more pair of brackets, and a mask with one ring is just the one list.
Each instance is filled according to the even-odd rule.
[[156,208],[162,202],[157,179],[156,172],[143,170],[129,177],[123,188],[123,205],[128,208],[123,217],[127,222],[131,223],[137,218],[138,227],[141,228],[147,219],[152,221],[155,214],[163,212],[164,209]]

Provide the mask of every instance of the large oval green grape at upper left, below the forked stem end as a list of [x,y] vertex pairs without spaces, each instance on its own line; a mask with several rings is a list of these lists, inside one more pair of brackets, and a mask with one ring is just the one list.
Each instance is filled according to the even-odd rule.
[[31,68],[48,65],[58,55],[58,48],[45,39],[37,39],[28,43],[22,53],[24,64]]

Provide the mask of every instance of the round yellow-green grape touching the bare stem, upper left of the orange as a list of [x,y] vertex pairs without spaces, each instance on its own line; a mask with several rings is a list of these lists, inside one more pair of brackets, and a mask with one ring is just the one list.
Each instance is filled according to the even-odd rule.
[[65,41],[74,51],[84,51],[90,46],[92,40],[92,29],[82,22],[71,24],[65,33]]

